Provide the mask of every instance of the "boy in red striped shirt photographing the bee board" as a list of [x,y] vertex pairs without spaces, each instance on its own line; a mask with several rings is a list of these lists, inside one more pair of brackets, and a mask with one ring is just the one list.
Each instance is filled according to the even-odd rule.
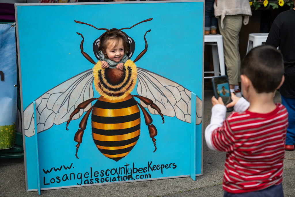
[[[212,97],[205,139],[212,150],[227,152],[224,196],[283,196],[282,174],[288,112],[273,102],[284,81],[281,53],[272,46],[251,50],[241,64],[242,92],[232,94],[226,119],[222,98]],[[248,101],[247,101],[248,100]]]

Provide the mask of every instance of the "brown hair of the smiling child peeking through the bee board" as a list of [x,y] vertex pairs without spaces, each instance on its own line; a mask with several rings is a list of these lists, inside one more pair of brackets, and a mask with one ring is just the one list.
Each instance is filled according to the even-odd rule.
[[99,41],[98,51],[102,51],[102,53],[104,53],[104,56],[106,58],[108,58],[108,56],[106,55],[106,48],[110,40],[114,40],[115,45],[117,45],[119,41],[122,40],[123,46],[124,46],[124,52],[128,53],[129,47],[127,45],[127,40],[125,39],[124,34],[122,35],[116,30],[111,30],[111,31],[107,31],[105,35],[101,37]]

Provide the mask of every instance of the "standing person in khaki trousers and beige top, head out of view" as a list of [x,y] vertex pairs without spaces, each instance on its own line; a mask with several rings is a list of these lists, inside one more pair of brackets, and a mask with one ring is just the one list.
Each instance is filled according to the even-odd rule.
[[214,15],[218,19],[218,28],[223,37],[224,63],[230,91],[239,93],[239,82],[241,81],[239,33],[242,23],[247,25],[252,15],[249,1],[217,0],[214,3]]

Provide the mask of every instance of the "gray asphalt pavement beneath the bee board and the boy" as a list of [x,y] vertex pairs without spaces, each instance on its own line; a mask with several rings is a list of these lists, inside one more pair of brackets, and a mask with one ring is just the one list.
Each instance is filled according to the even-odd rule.
[[[204,128],[211,117],[212,90],[204,91]],[[281,102],[277,92],[275,102]],[[133,183],[94,185],[41,191],[42,196],[223,196],[222,175],[225,153],[209,150],[203,143],[203,176],[174,178]],[[295,151],[286,151],[283,172],[285,197],[295,196]],[[0,160],[0,196],[38,196],[38,192],[26,192],[24,160]]]

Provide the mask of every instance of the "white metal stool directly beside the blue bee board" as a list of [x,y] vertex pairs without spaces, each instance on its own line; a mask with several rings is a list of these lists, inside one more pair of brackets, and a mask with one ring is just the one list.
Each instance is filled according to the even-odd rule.
[[[204,35],[204,44],[212,46],[212,59],[214,71],[204,71],[204,73],[214,73],[214,76],[225,75],[223,41],[220,34]],[[220,73],[219,73],[220,68]],[[204,79],[213,76],[204,76]]]

